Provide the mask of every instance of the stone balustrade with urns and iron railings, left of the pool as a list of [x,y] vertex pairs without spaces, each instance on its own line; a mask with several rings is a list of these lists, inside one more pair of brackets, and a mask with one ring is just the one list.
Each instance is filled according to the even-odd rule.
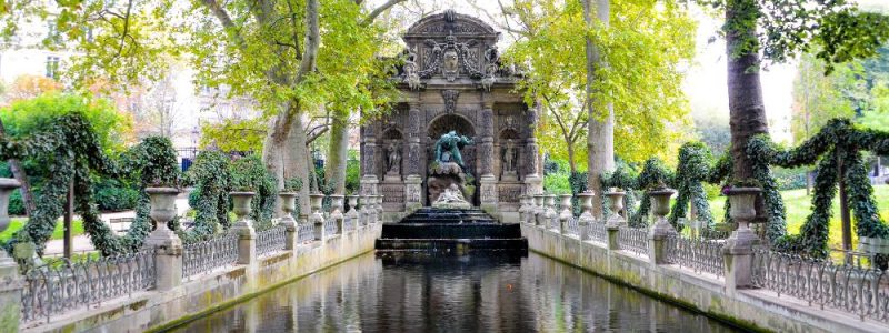
[[[333,239],[370,230],[370,226],[379,224],[378,219],[382,216],[382,195],[360,196],[360,209],[359,196],[350,195],[348,211],[343,206],[343,195],[331,195],[330,211],[322,212],[321,200],[324,195],[311,194],[312,212],[307,220],[298,222],[292,215],[297,193],[282,192],[279,193],[279,200],[283,215],[276,219],[273,222],[277,223],[271,228],[257,231],[254,221],[249,218],[254,193],[232,192],[230,195],[237,218],[231,229],[206,240],[183,244],[179,236],[167,228],[167,222],[176,218],[174,199],[179,190],[150,188],[147,192],[151,198],[150,216],[157,223],[157,228],[146,240],[142,251],[136,254],[102,258],[96,262],[66,265],[61,269],[31,268],[24,276],[20,276],[16,263],[9,261],[11,265],[7,266],[11,269],[0,273],[13,276],[16,280],[8,280],[16,283],[6,285],[0,297],[4,301],[14,301],[3,304],[13,304],[4,306],[14,306],[14,311],[7,313],[14,312],[17,316],[14,321],[0,323],[2,324],[0,331],[14,332],[20,325],[26,327],[46,325],[58,321],[57,317],[64,317],[68,312],[82,310],[84,305],[113,302],[116,297],[127,296],[137,291],[174,290],[186,282],[206,279],[203,276],[212,272],[233,270],[238,266],[243,266],[246,272],[256,272],[260,262],[267,258],[280,256],[287,252],[296,255],[307,249],[324,246]],[[0,201],[2,200],[8,200],[8,193],[0,191]],[[0,251],[0,270],[7,264],[3,255],[6,252]],[[78,265],[84,268],[79,269]],[[108,274],[90,275],[93,271],[101,271],[91,269],[93,266],[108,271]],[[52,272],[56,271],[71,273],[53,275]],[[76,273],[87,274],[80,276]],[[66,283],[71,286],[66,286]],[[96,289],[96,291],[84,289],[99,284],[114,285],[116,289]],[[68,300],[66,297],[73,295],[70,290],[78,290],[81,294],[89,295],[89,297],[78,296],[88,302],[59,303],[59,300]],[[22,300],[22,295],[27,297],[23,300],[27,302],[19,301]]]

